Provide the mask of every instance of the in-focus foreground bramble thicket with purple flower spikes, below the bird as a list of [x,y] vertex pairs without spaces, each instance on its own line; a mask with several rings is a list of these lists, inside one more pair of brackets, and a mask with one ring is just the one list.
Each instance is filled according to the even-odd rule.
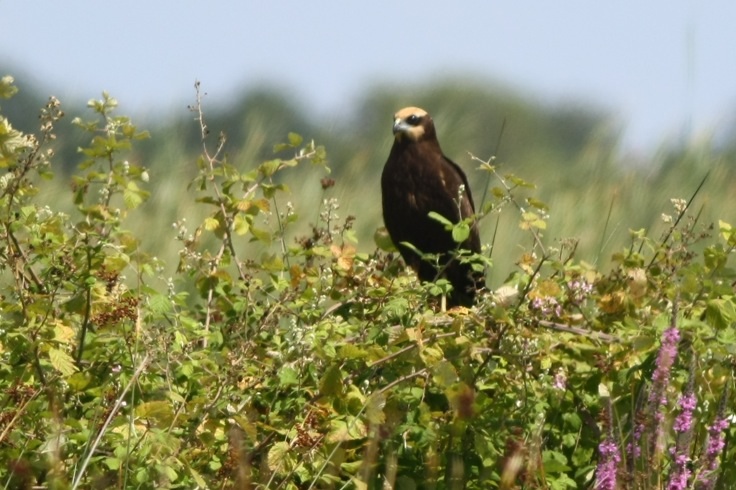
[[[1,97],[15,90],[2,79]],[[574,241],[549,244],[532,185],[475,159],[497,182],[479,219],[518,216],[529,243],[476,307],[438,312],[446,282],[420,284],[381,233],[372,251],[356,243],[360,217],[339,215],[324,148],[292,133],[273,159],[236,167],[198,87],[190,190],[208,213],[149,230],[179,245],[167,272],[127,231],[164,177],[135,161],[149,135],[116,105],[103,94],[73,121],[89,142],[73,213],[40,199],[59,101],[36,135],[0,116],[5,488],[736,481],[736,231],[692,213],[705,179],[673,200],[662,236],[632,230],[599,271]],[[289,201],[285,178],[305,165],[323,192],[311,208]],[[491,252],[477,261],[512,260]]]

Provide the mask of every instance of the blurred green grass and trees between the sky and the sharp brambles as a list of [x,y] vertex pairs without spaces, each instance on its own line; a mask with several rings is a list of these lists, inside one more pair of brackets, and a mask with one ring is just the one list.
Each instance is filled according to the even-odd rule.
[[[38,93],[21,93],[3,104],[3,112],[11,123],[31,131],[43,103],[43,98],[38,100]],[[84,136],[70,122],[74,115],[90,114],[85,114],[84,104],[62,104],[69,116],[58,127],[57,132],[64,134],[59,141],[72,144],[58,148],[56,178],[42,183],[40,198],[54,209],[73,213],[69,176],[82,160],[74,145],[86,142],[79,141]],[[457,78],[425,86],[377,86],[329,119],[313,118],[299,101],[268,89],[226,103],[210,105],[210,100],[204,100],[208,145],[214,149],[217,135],[224,132],[226,158],[241,171],[273,158],[273,145],[285,141],[289,132],[325,146],[330,175],[308,165],[285,173],[284,183],[291,189],[288,200],[300,217],[288,240],[295,243],[295,236],[308,234],[323,200],[335,198],[341,219],[356,218],[357,248],[362,252],[375,249],[373,234],[382,226],[380,173],[392,143],[391,118],[407,105],[432,114],[445,154],[468,175],[476,208],[486,193],[490,199],[490,188],[499,182],[477,170],[470,154],[483,160],[493,156],[500,175],[514,174],[536,185],[521,195],[549,207],[545,245],[554,248],[562,241],[578,240],[576,256],[601,270],[606,270],[612,253],[630,243],[630,230],[643,228],[650,237],[658,237],[667,227],[662,214],[675,214],[670,199],[689,199],[706,174],[707,182],[691,208],[700,213],[699,225],[719,219],[736,222],[733,138],[719,145],[708,137],[687,144],[672,142],[646,159],[634,160],[621,150],[620,124],[606,110],[571,101],[545,104],[490,82]],[[142,237],[143,247],[164,259],[173,273],[180,243],[174,239],[172,224],[186,218],[194,231],[210,211],[195,202],[196,191],[188,188],[202,152],[199,127],[194,114],[184,107],[170,118],[146,121],[126,111],[125,101],[120,101],[117,114],[131,116],[139,129],[151,132],[151,139],[135,147],[129,158],[149,168],[151,198],[130,212],[126,227]],[[328,176],[335,185],[325,191],[320,180]],[[279,210],[285,206],[278,203]],[[520,229],[519,213],[511,206],[487,216],[481,232],[484,243],[493,243],[489,284],[497,287],[530,249],[532,238]],[[269,247],[263,243],[242,246],[250,247],[253,254]]]

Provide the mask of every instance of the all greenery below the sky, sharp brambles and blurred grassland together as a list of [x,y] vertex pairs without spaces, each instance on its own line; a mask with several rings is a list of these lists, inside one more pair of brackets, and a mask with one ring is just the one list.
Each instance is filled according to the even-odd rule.
[[0,117],[0,484],[736,481],[730,151],[627,167],[605,115],[452,86],[413,103],[493,292],[449,313],[373,242],[401,92],[331,126],[267,94],[210,120],[199,89],[151,134],[107,94]]

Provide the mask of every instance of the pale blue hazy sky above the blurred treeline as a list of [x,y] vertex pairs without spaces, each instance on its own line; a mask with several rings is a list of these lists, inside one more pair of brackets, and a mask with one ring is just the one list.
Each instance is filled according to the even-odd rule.
[[592,103],[646,150],[734,124],[734,23],[733,0],[0,0],[0,75],[129,115],[267,84],[335,118],[378,83],[470,76]]

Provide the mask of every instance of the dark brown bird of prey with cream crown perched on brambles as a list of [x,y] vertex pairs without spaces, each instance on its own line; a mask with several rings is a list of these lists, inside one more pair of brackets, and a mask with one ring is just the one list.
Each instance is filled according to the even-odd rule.
[[[394,144],[381,174],[383,221],[391,240],[422,281],[446,278],[452,284],[449,306],[472,306],[476,291],[485,286],[483,272],[461,263],[458,250],[480,253],[475,221],[470,235],[456,243],[450,231],[429,217],[434,211],[452,223],[475,214],[468,179],[442,154],[434,122],[427,111],[406,107],[394,114]],[[439,261],[422,260],[436,254]]]

